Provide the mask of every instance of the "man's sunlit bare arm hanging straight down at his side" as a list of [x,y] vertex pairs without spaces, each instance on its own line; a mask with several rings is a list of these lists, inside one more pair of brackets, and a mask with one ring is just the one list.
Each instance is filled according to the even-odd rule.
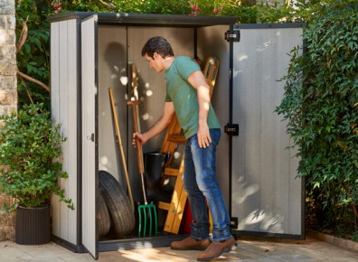
[[188,78],[189,83],[196,89],[199,105],[198,117],[198,143],[200,147],[205,148],[212,143],[208,126],[208,114],[210,108],[210,87],[206,83],[202,71],[194,71]]

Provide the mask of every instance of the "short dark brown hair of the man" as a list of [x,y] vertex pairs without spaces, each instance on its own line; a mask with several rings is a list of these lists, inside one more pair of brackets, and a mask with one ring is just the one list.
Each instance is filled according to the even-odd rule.
[[155,36],[150,38],[142,48],[142,56],[147,55],[154,59],[155,52],[163,58],[174,56],[174,51],[170,43],[167,42],[162,36]]

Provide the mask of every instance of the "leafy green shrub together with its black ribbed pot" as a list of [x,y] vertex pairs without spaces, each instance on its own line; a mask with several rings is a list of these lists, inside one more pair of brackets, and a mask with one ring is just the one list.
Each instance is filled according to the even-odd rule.
[[16,243],[47,243],[52,235],[52,193],[73,209],[58,182],[68,177],[60,162],[65,137],[43,104],[25,105],[17,115],[0,116],[0,121],[0,192],[14,198],[2,210],[16,211]]

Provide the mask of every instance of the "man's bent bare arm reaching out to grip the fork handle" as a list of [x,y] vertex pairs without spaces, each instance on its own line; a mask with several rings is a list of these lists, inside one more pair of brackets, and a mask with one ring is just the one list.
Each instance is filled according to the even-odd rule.
[[146,130],[145,133],[134,133],[132,145],[136,145],[136,139],[139,140],[141,145],[144,145],[150,138],[160,134],[165,127],[169,125],[172,117],[174,116],[174,112],[173,102],[165,102],[162,117],[159,117],[155,124]]

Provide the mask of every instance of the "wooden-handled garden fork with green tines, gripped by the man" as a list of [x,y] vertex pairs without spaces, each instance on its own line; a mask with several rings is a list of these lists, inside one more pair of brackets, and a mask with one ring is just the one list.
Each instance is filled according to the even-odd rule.
[[[133,65],[132,67],[132,71],[133,71],[133,81],[134,81],[134,89],[135,89],[135,94],[137,92],[137,74],[136,74],[136,67]],[[139,132],[139,123],[138,123],[138,115],[139,115],[139,110],[138,110],[138,106],[139,106],[139,101],[137,96],[135,96],[135,100],[134,101],[127,101],[127,105],[130,106],[130,108],[132,108],[132,117],[133,117],[133,129],[134,132],[137,133]],[[144,161],[143,161],[143,149],[142,149],[142,145],[140,144],[139,141],[136,141],[136,152],[137,152],[137,163],[138,163],[138,169],[139,169],[139,173],[140,173],[140,178],[141,178],[141,186],[142,186],[142,191],[143,191],[143,197],[144,197],[144,204],[139,204],[138,205],[138,219],[139,219],[139,228],[138,228],[138,237],[142,237],[142,233],[143,233],[143,237],[146,237],[146,222],[147,222],[147,217],[146,215],[148,215],[149,218],[149,236],[152,236],[152,226],[153,223],[155,224],[155,236],[157,235],[157,217],[156,217],[156,209],[155,209],[155,204],[153,203],[148,203],[148,201],[146,201],[146,185],[145,185],[145,173],[144,173]],[[143,215],[143,219],[142,219],[142,215]],[[154,221],[153,221],[154,219]]]

